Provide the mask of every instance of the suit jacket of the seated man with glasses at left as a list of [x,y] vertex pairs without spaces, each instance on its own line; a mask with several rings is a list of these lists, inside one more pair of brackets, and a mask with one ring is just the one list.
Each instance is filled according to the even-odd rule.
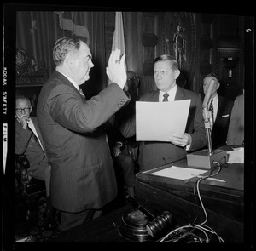
[[[42,134],[38,128],[37,118],[30,117],[30,119],[38,133],[39,140],[45,148]],[[31,136],[32,131],[23,129],[21,123],[15,120],[15,154],[24,154],[30,163],[30,168],[28,170],[32,176],[44,180],[44,168],[49,166],[49,160],[42,147],[38,145],[38,143],[30,140]]]

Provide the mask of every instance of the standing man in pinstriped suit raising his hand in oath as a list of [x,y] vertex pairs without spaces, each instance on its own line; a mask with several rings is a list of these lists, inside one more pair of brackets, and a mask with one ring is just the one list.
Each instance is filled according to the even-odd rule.
[[81,84],[90,76],[90,48],[79,37],[63,37],[53,49],[55,72],[38,97],[37,117],[51,164],[52,204],[61,211],[61,231],[102,214],[117,196],[107,134],[102,126],[129,99],[125,55],[111,53],[110,84],[86,100]]

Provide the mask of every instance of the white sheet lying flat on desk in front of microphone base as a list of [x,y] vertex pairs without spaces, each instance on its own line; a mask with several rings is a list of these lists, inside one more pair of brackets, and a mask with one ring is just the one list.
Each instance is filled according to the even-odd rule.
[[179,167],[172,166],[170,168],[165,168],[151,174],[172,178],[172,179],[177,179],[177,180],[189,180],[197,175],[201,175],[204,173],[207,173],[207,171],[201,170],[201,169],[179,168]]

